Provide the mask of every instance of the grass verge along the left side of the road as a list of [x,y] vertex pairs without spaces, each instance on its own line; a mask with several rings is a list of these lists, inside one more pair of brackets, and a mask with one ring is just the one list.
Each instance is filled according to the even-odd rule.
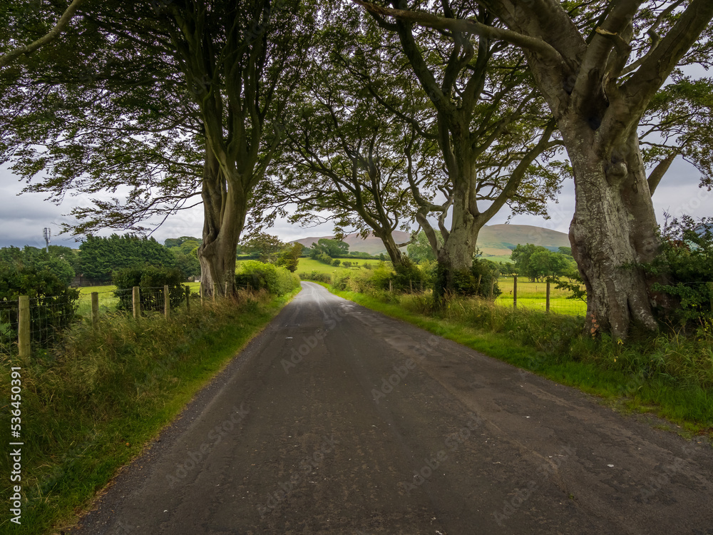
[[[296,292],[241,292],[235,301],[206,302],[168,321],[160,314],[139,322],[105,315],[98,329],[85,321],[64,336],[61,347],[30,362],[6,358],[0,379],[4,405],[9,369],[21,367],[23,500],[21,525],[4,514],[0,533],[49,534],[73,524],[76,512]],[[5,474],[8,462],[2,456]],[[5,499],[9,484],[4,478]]]

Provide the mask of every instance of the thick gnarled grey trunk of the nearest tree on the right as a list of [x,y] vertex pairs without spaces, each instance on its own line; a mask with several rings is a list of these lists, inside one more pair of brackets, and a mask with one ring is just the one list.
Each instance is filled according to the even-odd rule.
[[648,281],[638,263],[659,248],[656,217],[637,132],[597,154],[596,131],[560,121],[575,175],[570,243],[588,292],[587,328],[625,338],[632,327],[653,331]]

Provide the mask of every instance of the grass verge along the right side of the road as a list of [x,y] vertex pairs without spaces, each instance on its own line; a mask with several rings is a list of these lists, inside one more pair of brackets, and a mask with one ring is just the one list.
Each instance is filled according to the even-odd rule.
[[661,335],[628,345],[581,335],[583,319],[511,310],[482,300],[452,300],[434,310],[428,296],[334,294],[410,322],[625,412],[668,419],[713,442],[713,346],[710,337]]

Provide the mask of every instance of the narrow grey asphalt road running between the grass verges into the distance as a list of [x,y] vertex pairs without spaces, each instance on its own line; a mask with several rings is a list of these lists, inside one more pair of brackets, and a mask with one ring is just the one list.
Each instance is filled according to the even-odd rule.
[[713,451],[310,282],[73,534],[713,534]]

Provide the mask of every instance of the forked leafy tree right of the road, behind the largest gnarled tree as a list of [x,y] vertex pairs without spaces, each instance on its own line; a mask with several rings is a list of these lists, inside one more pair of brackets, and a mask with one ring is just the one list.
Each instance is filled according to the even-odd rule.
[[[468,30],[416,31],[401,17],[385,18],[401,10],[356,3],[394,36],[395,43],[388,41],[389,50],[399,47],[399,55],[434,111],[424,124],[409,103],[404,106],[399,96],[380,93],[379,80],[364,72],[367,86],[381,104],[420,136],[428,137],[434,127],[447,174],[442,185],[446,200],[434,203],[416,185],[411,184],[411,189],[419,205],[416,220],[437,253],[436,293],[440,295],[454,290],[456,279],[470,276],[478,232],[504,205],[541,211],[547,196],[558,189],[557,174],[538,163],[545,151],[560,144],[553,137],[555,123],[543,113],[544,103],[536,91],[526,87],[528,71],[516,49],[486,35],[477,36],[473,44],[473,32]],[[469,17],[483,26],[493,22],[491,12],[477,5],[446,0],[439,7],[446,16],[463,22]],[[438,218],[442,244],[429,220],[431,213]],[[445,225],[447,215],[450,228]]]

